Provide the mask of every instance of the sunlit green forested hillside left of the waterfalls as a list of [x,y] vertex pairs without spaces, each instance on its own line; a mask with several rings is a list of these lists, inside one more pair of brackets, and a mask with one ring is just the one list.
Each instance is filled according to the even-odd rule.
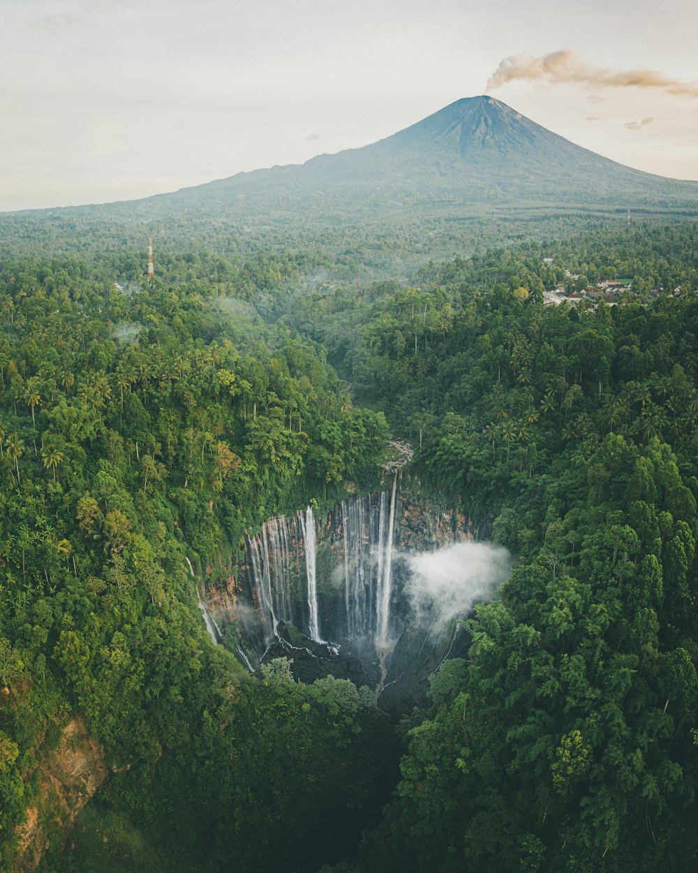
[[71,711],[157,870],[341,856],[386,790],[373,696],[283,665],[251,679],[209,642],[185,563],[284,505],[375,485],[385,419],[352,408],[316,347],[193,285],[127,294],[74,259],[3,265],[3,869]]

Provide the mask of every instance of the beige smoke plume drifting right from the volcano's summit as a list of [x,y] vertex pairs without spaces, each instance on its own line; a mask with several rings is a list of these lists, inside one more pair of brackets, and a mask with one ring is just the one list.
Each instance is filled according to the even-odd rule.
[[540,58],[533,58],[527,53],[504,58],[490,76],[487,88],[501,88],[519,79],[544,79],[552,85],[577,82],[601,88],[657,88],[679,97],[698,98],[698,85],[695,82],[669,79],[654,70],[616,72],[607,67],[586,64],[573,49],[562,49]]

